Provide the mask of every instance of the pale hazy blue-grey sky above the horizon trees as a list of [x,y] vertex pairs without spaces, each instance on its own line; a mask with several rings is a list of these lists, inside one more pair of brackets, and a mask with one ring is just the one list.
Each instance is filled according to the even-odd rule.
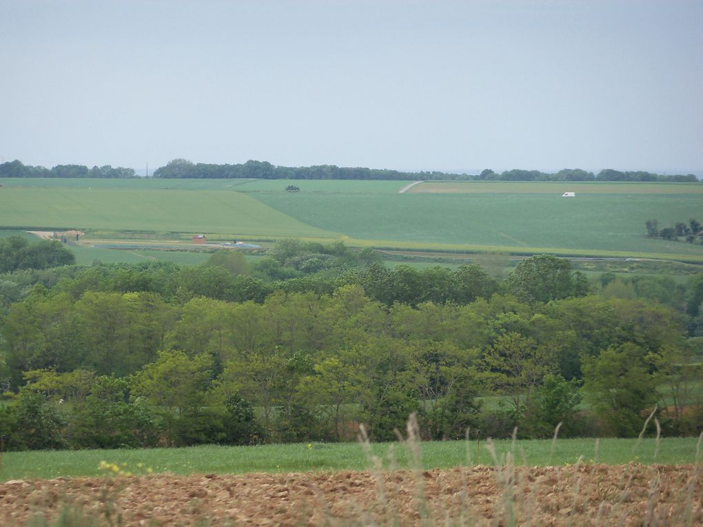
[[703,1],[0,0],[0,156],[703,176]]

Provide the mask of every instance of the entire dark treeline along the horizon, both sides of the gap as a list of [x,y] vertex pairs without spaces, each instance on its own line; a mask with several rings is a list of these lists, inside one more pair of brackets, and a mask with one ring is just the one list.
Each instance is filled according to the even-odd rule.
[[[59,164],[52,169],[32,167],[15,160],[0,164],[3,178],[134,178],[134,169],[110,165],[89,169],[78,164]],[[192,179],[362,179],[362,180],[451,180],[451,181],[671,181],[697,183],[694,174],[664,175],[647,171],[602,169],[598,174],[582,169],[558,172],[512,169],[480,174],[451,174],[441,171],[404,172],[366,167],[337,167],[333,164],[312,167],[280,167],[267,161],[249,160],[238,164],[193,163],[176,159],[154,171],[155,178]]]

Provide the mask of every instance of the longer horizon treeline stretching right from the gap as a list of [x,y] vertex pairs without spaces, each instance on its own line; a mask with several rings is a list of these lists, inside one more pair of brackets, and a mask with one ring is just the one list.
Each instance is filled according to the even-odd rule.
[[257,179],[421,179],[455,181],[685,181],[697,182],[693,174],[664,176],[645,171],[605,169],[598,174],[581,169],[563,169],[555,173],[537,170],[507,170],[498,174],[486,169],[480,174],[446,172],[403,172],[362,167],[337,167],[324,164],[314,167],[278,167],[266,161],[249,160],[242,164],[193,163],[176,159],[154,171],[155,178],[257,178]]

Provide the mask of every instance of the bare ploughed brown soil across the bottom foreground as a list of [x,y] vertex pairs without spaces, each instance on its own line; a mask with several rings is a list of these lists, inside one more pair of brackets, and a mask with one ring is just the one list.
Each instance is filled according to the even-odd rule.
[[124,526],[697,526],[701,483],[690,465],[638,464],[8,481],[0,525],[68,504]]

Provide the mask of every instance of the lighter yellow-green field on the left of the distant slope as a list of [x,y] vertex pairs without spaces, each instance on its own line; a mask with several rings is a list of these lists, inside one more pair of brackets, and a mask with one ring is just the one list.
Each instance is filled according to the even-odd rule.
[[0,226],[334,238],[252,197],[216,190],[0,188]]

